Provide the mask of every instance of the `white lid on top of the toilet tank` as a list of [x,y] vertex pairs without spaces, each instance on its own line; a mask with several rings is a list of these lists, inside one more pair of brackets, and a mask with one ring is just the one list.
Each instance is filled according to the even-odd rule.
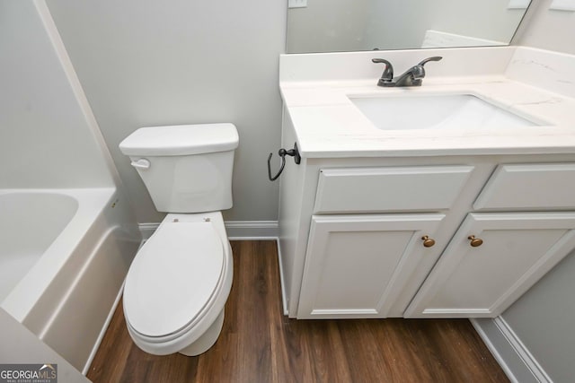
[[234,124],[140,127],[119,143],[126,155],[171,156],[234,150],[239,142]]

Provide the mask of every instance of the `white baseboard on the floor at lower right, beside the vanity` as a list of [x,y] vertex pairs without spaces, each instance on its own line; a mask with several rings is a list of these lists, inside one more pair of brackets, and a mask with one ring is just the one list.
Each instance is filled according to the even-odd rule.
[[520,383],[553,383],[505,319],[498,317],[470,320],[509,380]]

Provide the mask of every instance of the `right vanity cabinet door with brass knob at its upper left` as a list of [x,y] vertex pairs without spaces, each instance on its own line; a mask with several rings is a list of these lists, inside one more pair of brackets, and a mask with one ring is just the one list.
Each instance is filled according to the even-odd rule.
[[470,213],[405,318],[497,317],[575,247],[573,229],[575,213]]

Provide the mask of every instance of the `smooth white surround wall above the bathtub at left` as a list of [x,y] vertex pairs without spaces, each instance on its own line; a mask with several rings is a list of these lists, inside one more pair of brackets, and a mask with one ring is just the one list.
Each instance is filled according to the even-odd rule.
[[0,0],[0,188],[113,180],[32,1]]

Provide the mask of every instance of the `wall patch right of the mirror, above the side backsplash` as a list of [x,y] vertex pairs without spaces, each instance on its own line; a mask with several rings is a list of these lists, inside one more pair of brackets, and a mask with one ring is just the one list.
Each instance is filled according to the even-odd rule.
[[533,0],[514,43],[575,55],[575,12],[549,10],[553,0]]

